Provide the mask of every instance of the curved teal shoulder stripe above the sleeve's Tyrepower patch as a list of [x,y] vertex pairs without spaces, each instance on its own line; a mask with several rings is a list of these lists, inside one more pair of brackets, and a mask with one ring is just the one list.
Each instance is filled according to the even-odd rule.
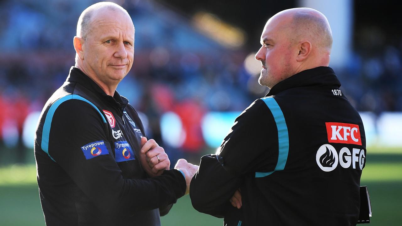
[[81,97],[79,95],[75,95],[75,94],[71,94],[71,95],[67,95],[65,97],[62,97],[60,99],[58,99],[57,101],[55,101],[49,108],[49,111],[47,111],[46,114],[46,118],[45,118],[45,123],[43,124],[43,131],[42,131],[42,143],[41,143],[41,148],[44,152],[46,152],[46,154],[51,158],[51,160],[54,161],[54,159],[50,156],[49,154],[49,134],[50,134],[50,126],[51,126],[51,121],[53,119],[53,115],[57,109],[57,107],[59,107],[59,105],[61,105],[64,101],[68,101],[71,99],[76,99],[76,100],[81,100],[81,101],[85,101],[86,103],[89,103],[90,105],[92,105],[92,107],[94,107],[96,109],[96,111],[98,111],[98,113],[100,114],[100,116],[103,119],[103,122],[106,123],[106,119],[105,117],[102,115],[102,113],[100,113],[99,109],[91,102],[89,102],[87,99],[85,99],[84,97]]

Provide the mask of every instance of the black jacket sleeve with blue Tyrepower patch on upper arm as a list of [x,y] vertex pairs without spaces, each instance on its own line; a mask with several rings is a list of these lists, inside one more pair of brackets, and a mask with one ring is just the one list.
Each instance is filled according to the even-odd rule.
[[[57,107],[49,132],[49,156],[95,205],[129,214],[167,206],[184,195],[186,182],[176,170],[149,179],[124,179],[108,131],[97,109],[72,99]],[[93,142],[103,144],[103,150],[91,152]]]

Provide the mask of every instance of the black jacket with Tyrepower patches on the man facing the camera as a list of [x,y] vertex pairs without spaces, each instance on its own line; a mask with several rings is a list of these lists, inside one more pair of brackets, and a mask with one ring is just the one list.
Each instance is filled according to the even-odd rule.
[[183,196],[180,171],[148,178],[137,156],[146,136],[137,112],[78,68],[47,101],[35,137],[47,225],[160,225]]

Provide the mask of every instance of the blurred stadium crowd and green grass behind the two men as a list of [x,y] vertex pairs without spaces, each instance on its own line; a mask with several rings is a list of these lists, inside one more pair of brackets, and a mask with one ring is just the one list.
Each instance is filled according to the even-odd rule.
[[[74,65],[72,37],[92,0],[0,1],[0,225],[44,225],[33,158],[43,104]],[[215,152],[234,118],[267,88],[253,60],[267,19],[307,6],[328,17],[330,66],[361,113],[371,225],[402,222],[402,19],[392,1],[120,0],[136,29],[135,60],[117,90],[142,114],[150,138],[197,164]],[[297,106],[295,106],[297,107]],[[77,128],[79,129],[79,128]],[[291,216],[289,216],[291,217]],[[189,197],[162,225],[222,225]]]

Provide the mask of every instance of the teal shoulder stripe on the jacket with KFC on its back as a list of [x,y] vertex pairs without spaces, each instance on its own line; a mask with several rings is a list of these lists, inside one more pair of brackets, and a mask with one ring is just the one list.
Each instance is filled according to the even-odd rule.
[[287,155],[289,154],[289,134],[287,132],[287,125],[281,108],[273,97],[264,97],[261,98],[261,100],[265,102],[267,107],[271,110],[272,115],[274,116],[275,123],[278,129],[279,154],[278,162],[275,166],[274,171],[256,172],[255,177],[266,177],[268,175],[271,175],[275,171],[283,170],[286,165]]

